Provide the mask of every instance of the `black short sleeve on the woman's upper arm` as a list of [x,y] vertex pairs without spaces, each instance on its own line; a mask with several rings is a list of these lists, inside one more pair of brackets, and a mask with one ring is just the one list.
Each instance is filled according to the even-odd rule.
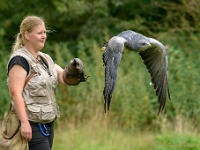
[[8,73],[10,69],[16,64],[22,66],[26,70],[27,74],[29,73],[29,64],[26,59],[21,56],[15,56],[10,60],[8,64]]

